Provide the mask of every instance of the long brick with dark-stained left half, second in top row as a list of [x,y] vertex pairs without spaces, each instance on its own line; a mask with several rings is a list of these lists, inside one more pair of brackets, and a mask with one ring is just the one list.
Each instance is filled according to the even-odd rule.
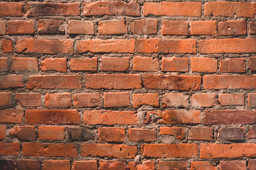
[[27,15],[77,16],[80,15],[80,3],[27,3]]

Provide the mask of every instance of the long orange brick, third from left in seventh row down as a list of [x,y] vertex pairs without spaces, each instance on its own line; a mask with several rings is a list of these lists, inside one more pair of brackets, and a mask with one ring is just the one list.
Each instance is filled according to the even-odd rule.
[[[104,111],[104,110],[87,110],[83,115],[84,124],[94,125],[136,125],[138,117],[136,111]],[[111,119],[109,119],[111,117]]]

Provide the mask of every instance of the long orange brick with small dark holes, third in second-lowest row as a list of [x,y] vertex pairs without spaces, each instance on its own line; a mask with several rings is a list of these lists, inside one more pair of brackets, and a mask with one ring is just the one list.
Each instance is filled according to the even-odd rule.
[[114,145],[100,143],[82,143],[81,156],[88,157],[116,157],[131,159],[136,156],[137,147],[129,145]]

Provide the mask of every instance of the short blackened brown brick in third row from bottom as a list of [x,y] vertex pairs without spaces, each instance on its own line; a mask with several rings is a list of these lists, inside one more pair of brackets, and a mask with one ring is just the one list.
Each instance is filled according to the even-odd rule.
[[72,141],[89,141],[95,139],[96,133],[84,127],[68,127],[68,136]]

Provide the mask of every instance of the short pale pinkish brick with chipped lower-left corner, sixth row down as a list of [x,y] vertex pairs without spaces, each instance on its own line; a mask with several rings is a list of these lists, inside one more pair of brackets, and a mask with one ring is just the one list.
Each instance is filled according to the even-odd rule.
[[182,93],[177,94],[164,94],[163,95],[163,108],[166,107],[187,107],[188,106],[188,96]]

